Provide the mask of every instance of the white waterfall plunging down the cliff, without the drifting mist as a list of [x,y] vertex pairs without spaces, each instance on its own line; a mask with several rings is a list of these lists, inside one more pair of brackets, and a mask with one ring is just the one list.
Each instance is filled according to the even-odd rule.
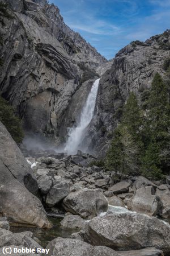
[[68,152],[68,154],[76,154],[77,150],[79,149],[80,143],[83,141],[85,135],[84,130],[89,125],[94,115],[99,81],[100,79],[97,79],[92,85],[91,91],[87,97],[86,104],[84,105],[84,108],[82,110],[78,125],[69,130],[69,138],[65,146],[65,151]]

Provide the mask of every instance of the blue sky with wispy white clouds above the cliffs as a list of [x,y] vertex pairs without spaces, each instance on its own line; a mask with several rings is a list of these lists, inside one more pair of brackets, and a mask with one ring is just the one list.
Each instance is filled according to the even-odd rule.
[[170,0],[49,0],[65,23],[111,59],[133,40],[170,28]]

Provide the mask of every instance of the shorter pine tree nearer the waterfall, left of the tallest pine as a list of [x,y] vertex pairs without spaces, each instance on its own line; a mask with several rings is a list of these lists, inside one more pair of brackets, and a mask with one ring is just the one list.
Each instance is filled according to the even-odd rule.
[[142,150],[141,125],[141,109],[132,92],[124,106],[120,125],[114,130],[111,147],[107,152],[106,164],[109,170],[123,174],[138,172]]

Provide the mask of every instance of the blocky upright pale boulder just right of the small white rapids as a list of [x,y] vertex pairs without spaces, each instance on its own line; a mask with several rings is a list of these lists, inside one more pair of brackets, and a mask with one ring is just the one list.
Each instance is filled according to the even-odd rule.
[[156,216],[162,212],[162,202],[158,196],[155,196],[152,186],[137,189],[134,196],[127,201],[127,205],[130,210],[150,216]]

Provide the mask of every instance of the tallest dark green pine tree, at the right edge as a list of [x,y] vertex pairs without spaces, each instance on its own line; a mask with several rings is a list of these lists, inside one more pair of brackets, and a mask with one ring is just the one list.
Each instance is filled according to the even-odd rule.
[[156,73],[148,98],[148,111],[145,129],[143,129],[146,151],[142,156],[141,170],[144,175],[158,178],[162,176],[162,172],[168,170],[170,165],[169,117],[168,88],[162,77]]

